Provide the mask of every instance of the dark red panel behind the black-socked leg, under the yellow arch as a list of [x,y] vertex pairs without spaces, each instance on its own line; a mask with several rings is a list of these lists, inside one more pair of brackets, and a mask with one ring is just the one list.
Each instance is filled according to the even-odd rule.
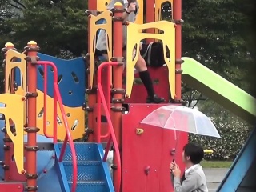
[[[158,96],[161,96],[166,99],[168,102],[170,98],[170,89],[168,82],[168,68],[166,66],[158,67],[158,68],[148,68],[150,72],[150,76],[152,81],[158,81],[158,83],[154,83],[154,90]],[[134,78],[138,78],[138,74],[134,74]],[[124,85],[124,87],[126,87]],[[126,99],[126,103],[145,103],[146,102],[146,89],[143,84],[134,85],[131,96],[129,99]]]

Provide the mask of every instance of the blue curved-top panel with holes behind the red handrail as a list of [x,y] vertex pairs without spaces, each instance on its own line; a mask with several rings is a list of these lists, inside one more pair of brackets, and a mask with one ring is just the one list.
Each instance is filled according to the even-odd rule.
[[[85,102],[85,64],[82,58],[75,58],[72,60],[63,60],[54,58],[46,54],[39,54],[41,61],[54,62],[58,69],[58,77],[62,75],[62,80],[58,86],[62,94],[63,104],[70,107],[82,106]],[[48,76],[48,90],[47,94],[53,97],[53,73],[50,67],[47,67]],[[43,71],[43,66],[38,66],[38,90],[43,91],[43,78],[40,74]],[[72,73],[74,73],[78,82],[75,82]]]

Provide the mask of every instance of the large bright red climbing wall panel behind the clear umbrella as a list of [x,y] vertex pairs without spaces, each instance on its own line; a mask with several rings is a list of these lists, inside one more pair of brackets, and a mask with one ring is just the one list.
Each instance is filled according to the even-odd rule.
[[[170,192],[170,162],[174,158],[171,150],[176,148],[176,162],[182,164],[182,148],[187,142],[187,134],[177,132],[178,142],[174,140],[174,130],[140,124],[147,114],[159,106],[156,104],[132,104],[129,113],[122,121],[122,192]],[[142,128],[143,134],[136,134]],[[177,145],[178,144],[178,145]],[[145,169],[150,168],[146,175]]]

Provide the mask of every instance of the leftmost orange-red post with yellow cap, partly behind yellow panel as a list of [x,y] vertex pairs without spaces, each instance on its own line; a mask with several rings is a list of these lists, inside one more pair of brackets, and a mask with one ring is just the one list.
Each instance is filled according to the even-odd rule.
[[[7,79],[7,74],[6,74],[6,52],[8,50],[11,50],[11,49],[14,49],[14,44],[11,43],[11,42],[7,42],[5,47],[2,48],[2,52],[4,53],[5,55],[5,60],[4,60],[4,65],[5,65],[5,93],[8,92],[8,86],[13,86],[12,85],[12,82],[10,82],[10,85],[9,85],[9,79]],[[13,73],[11,73],[13,74]],[[12,76],[12,75],[11,75]],[[13,79],[14,77],[10,77],[11,79]],[[11,88],[11,90],[14,90]],[[8,119],[6,119],[7,121],[9,121]],[[12,125],[13,123],[10,122],[10,125]],[[5,129],[5,137],[3,138],[3,142],[4,142],[4,146],[3,146],[3,149],[5,151],[4,153],[4,162],[2,162],[2,168],[4,169],[4,178],[5,178],[5,181],[10,181],[10,178],[11,178],[11,175],[10,175],[10,143],[12,142],[9,135],[6,133],[6,129]]]

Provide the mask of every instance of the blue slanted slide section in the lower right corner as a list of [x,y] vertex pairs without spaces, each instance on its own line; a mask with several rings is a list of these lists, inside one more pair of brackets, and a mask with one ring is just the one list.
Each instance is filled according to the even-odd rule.
[[219,192],[236,191],[256,158],[256,127],[218,187]]

